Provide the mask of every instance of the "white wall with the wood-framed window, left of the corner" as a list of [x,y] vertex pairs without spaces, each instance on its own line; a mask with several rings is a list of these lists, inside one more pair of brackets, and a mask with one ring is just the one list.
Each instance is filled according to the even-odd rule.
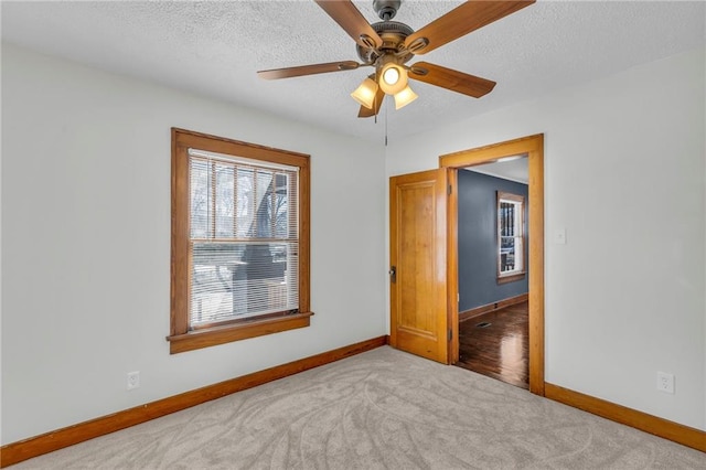
[[[169,354],[172,126],[311,154],[310,328]],[[381,146],[7,44],[2,137],[3,444],[386,333]]]

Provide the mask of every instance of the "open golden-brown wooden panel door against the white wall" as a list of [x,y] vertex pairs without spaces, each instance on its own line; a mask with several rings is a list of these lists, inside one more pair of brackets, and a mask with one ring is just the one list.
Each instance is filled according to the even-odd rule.
[[449,363],[447,169],[389,180],[391,345]]

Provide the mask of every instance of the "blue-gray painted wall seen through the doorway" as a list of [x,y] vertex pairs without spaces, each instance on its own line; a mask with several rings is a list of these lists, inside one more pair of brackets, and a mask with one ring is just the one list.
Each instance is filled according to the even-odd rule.
[[[496,191],[527,197],[527,185],[473,171],[459,171],[459,311],[527,292],[527,277],[499,285]],[[527,200],[525,199],[525,221]],[[525,223],[525,237],[527,224]],[[528,239],[525,238],[525,242]],[[525,244],[525,246],[527,246]],[[527,256],[525,249],[525,266]]]

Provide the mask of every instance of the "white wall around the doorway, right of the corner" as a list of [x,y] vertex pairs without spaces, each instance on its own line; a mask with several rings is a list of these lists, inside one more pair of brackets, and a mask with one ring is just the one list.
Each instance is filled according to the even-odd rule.
[[[545,133],[546,381],[706,429],[705,51],[394,141],[387,175]],[[567,244],[554,229],[566,227]],[[656,372],[676,394],[656,391]]]

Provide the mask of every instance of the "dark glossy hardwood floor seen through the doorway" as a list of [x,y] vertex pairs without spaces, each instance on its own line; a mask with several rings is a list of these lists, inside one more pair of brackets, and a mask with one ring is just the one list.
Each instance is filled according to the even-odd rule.
[[522,302],[462,321],[454,365],[530,388],[528,345],[528,303]]

